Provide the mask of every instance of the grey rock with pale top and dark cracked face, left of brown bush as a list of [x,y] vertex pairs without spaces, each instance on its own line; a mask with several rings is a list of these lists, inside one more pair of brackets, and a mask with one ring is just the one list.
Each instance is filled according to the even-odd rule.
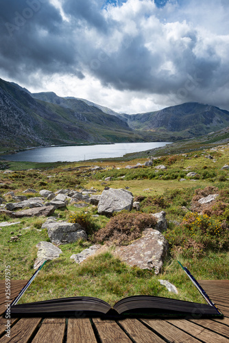
[[49,222],[45,225],[49,238],[54,244],[68,244],[78,239],[87,239],[84,228],[77,223]]

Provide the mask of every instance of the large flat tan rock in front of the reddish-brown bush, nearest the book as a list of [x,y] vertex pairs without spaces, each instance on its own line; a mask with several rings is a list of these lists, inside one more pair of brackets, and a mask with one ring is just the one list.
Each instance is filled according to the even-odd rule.
[[115,249],[115,255],[128,265],[141,269],[152,270],[155,274],[160,272],[169,244],[165,237],[152,228],[143,231],[143,236],[136,239],[130,246],[119,246]]

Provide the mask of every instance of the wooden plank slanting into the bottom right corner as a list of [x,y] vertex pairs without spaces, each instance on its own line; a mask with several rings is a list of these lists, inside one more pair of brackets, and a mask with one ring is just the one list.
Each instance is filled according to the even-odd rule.
[[203,327],[200,327],[199,325],[190,322],[189,320],[176,320],[171,319],[167,320],[170,324],[173,324],[175,327],[178,327],[179,329],[184,330],[186,333],[190,333],[195,338],[202,340],[202,342],[205,343],[228,343],[228,338],[225,338],[222,335],[219,335],[218,333],[215,333],[213,331],[210,331],[208,329],[204,329]]

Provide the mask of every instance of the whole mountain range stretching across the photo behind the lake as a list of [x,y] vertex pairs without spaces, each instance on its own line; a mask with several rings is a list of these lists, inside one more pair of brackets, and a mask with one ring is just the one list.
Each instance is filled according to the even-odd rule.
[[30,93],[0,79],[0,147],[178,141],[229,126],[229,112],[188,102],[162,110],[119,114],[77,97]]

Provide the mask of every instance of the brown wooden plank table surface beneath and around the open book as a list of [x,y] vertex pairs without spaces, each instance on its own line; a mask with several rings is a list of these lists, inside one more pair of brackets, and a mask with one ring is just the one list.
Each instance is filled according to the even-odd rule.
[[[5,281],[0,281],[0,343],[229,343],[229,280],[199,281],[222,319],[11,318],[5,336]],[[26,281],[11,283],[14,298]]]

